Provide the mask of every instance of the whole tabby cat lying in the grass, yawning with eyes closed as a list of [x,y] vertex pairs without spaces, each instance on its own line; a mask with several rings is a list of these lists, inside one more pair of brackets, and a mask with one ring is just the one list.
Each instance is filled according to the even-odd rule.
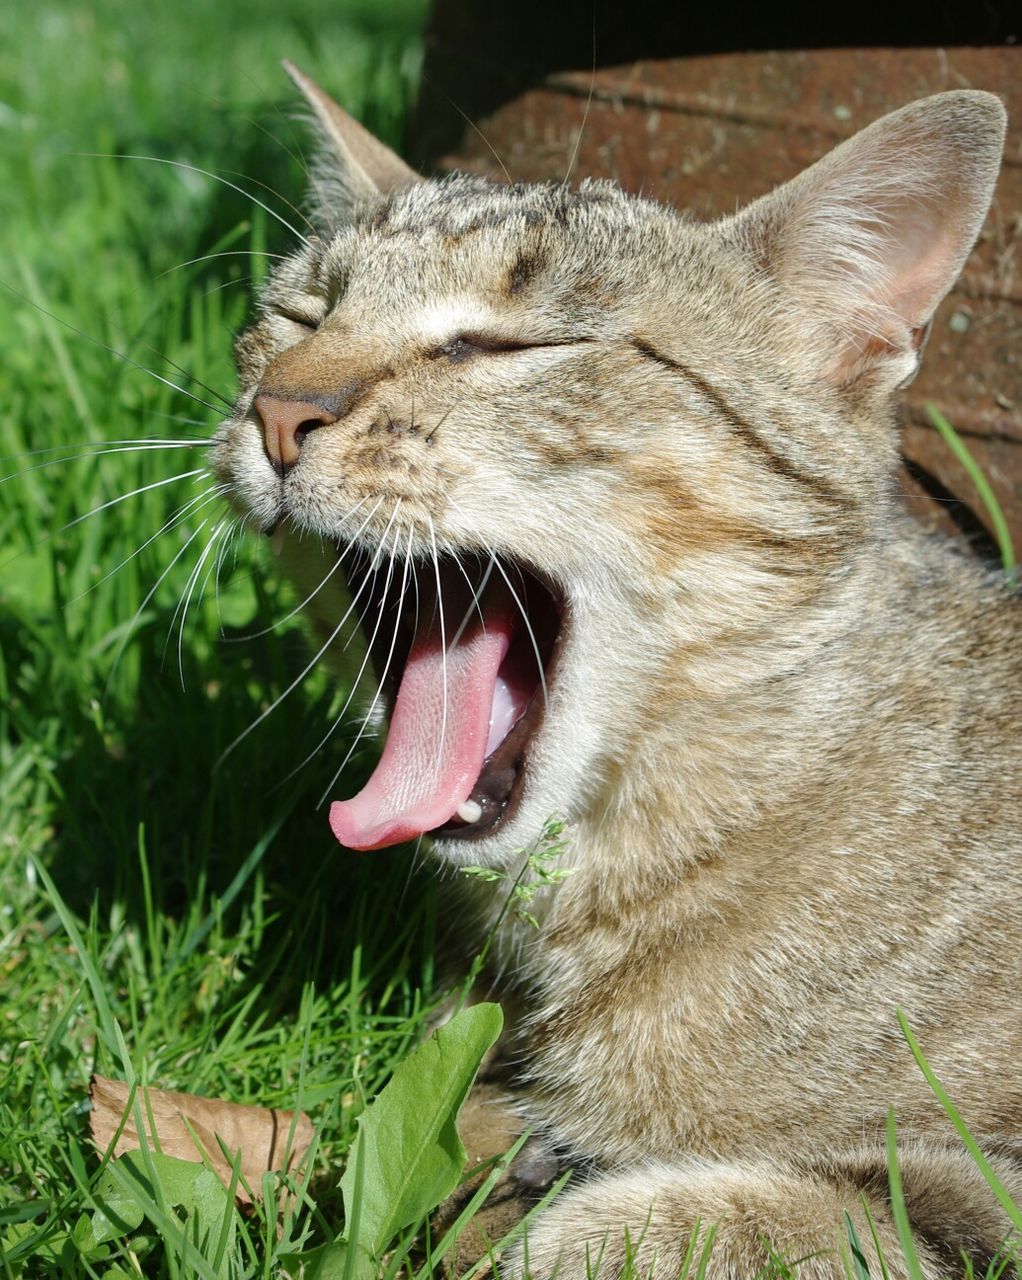
[[[712,1274],[750,1276],[844,1211],[868,1240],[861,1192],[890,1263],[890,1105],[930,1274],[991,1254],[1008,1220],[895,1006],[1022,1188],[1022,602],[895,509],[890,401],[998,104],[917,104],[701,227],[602,184],[419,183],[298,78],[336,225],[266,291],[216,465],[260,527],[368,557],[391,739],[336,833],[438,829],[514,876],[567,819],[572,874],[497,940],[519,1111],[597,1172],[530,1271],[671,1276],[721,1219]],[[482,934],[506,882],[460,891]]]

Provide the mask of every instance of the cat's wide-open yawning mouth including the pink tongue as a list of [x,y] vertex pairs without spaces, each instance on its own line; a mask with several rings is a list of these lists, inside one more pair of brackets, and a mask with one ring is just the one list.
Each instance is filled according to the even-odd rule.
[[365,787],[330,806],[348,849],[428,833],[475,840],[517,808],[562,646],[561,593],[516,561],[474,554],[389,570],[348,558],[389,704]]

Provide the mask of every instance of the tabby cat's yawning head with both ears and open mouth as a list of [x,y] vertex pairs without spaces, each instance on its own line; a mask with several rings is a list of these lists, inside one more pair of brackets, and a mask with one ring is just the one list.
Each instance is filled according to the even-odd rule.
[[338,838],[501,864],[686,699],[804,660],[884,536],[889,402],[1004,113],[916,102],[703,225],[603,182],[424,180],[292,76],[318,232],[238,343],[215,468],[251,525],[343,557],[391,714]]

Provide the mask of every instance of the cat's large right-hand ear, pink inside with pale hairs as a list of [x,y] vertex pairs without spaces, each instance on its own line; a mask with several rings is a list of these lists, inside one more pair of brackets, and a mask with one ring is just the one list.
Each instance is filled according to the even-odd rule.
[[922,99],[730,221],[799,303],[826,381],[911,380],[990,207],[1004,125],[993,93]]

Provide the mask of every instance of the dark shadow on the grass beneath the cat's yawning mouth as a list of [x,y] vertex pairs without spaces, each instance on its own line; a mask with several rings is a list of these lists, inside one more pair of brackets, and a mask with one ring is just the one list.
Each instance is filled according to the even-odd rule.
[[[412,984],[428,984],[430,876],[415,872],[407,846],[342,849],[329,829],[329,799],[318,808],[353,730],[339,728],[302,764],[336,718],[336,691],[295,690],[218,764],[307,663],[301,631],[228,643],[259,630],[254,620],[201,658],[186,648],[182,689],[174,646],[163,654],[172,625],[173,609],[161,608],[133,637],[131,678],[104,714],[61,678],[59,658],[40,680],[38,695],[51,699],[61,724],[47,864],[68,906],[79,919],[95,910],[101,924],[117,915],[145,937],[150,916],[181,920],[197,904],[215,914],[225,893],[229,932],[259,897],[265,924],[248,965],[264,989],[254,1016],[295,1012],[307,984],[324,989],[345,979],[356,948],[366,974],[389,956]],[[6,623],[0,641],[9,668],[29,660],[23,631]],[[360,744],[330,795],[353,794],[375,750]],[[394,961],[397,938],[403,947]],[[273,957],[272,980],[260,955]],[[394,969],[380,980],[392,983]]]

